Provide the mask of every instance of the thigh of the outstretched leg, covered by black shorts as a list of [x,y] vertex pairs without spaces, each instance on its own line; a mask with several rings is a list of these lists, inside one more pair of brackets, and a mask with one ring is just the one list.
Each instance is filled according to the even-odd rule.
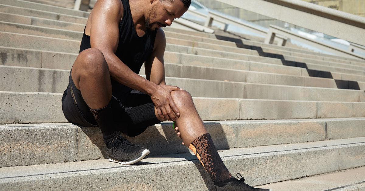
[[[155,115],[155,106],[149,95],[133,89],[130,91],[124,103],[119,103],[122,110],[119,108],[120,122],[124,122],[124,134],[134,137],[141,134],[149,126],[160,123],[161,121]],[[115,116],[118,117],[118,116]],[[123,124],[122,124],[123,126]],[[123,129],[123,127],[120,127]]]

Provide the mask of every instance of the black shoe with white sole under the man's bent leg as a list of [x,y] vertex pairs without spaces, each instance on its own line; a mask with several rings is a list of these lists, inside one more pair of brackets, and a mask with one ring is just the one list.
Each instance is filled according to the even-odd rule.
[[150,154],[148,149],[129,142],[122,135],[113,139],[106,146],[109,161],[120,164],[134,164]]

